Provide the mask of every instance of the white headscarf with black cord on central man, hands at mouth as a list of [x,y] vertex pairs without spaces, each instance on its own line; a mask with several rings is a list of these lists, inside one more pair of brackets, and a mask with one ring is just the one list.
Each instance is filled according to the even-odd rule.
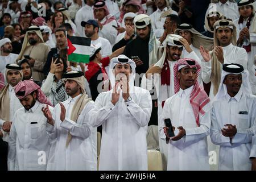
[[130,66],[131,66],[131,74],[129,75],[129,88],[130,88],[130,91],[132,91],[131,88],[134,87],[136,64],[133,60],[129,59],[129,57],[127,57],[125,55],[119,55],[118,57],[114,57],[110,60],[110,65],[109,65],[110,84],[111,84],[112,88],[114,88],[114,85],[115,85],[114,67],[115,67],[115,65],[117,65],[119,63],[121,63],[122,65],[130,64]]

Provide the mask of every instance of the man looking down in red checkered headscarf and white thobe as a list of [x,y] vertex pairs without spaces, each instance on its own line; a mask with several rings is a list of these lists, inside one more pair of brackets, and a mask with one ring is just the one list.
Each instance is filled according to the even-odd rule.
[[16,111],[11,125],[8,169],[44,171],[50,143],[46,133],[46,118],[41,109],[51,103],[33,81],[21,81],[14,90],[23,107]]

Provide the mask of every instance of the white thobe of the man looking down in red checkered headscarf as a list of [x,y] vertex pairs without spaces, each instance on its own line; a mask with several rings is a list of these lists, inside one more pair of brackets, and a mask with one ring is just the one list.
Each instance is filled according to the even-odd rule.
[[10,171],[46,170],[50,143],[46,133],[47,119],[41,110],[44,106],[36,101],[30,110],[22,107],[16,111],[10,130]]

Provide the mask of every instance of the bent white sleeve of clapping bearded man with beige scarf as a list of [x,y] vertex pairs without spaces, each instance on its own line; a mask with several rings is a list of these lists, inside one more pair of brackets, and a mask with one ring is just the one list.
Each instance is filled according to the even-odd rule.
[[90,136],[90,130],[92,126],[89,123],[89,111],[93,108],[93,101],[88,102],[84,109],[82,110],[79,118],[82,120],[82,125],[72,121],[69,118],[65,118],[63,122],[60,123],[60,127],[67,129],[72,136],[80,137],[82,139],[86,139]]

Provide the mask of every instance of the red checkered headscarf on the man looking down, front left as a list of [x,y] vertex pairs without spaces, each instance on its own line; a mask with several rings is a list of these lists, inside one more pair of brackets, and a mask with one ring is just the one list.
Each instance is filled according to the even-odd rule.
[[[52,106],[51,102],[48,100],[46,95],[43,93],[40,86],[38,86],[34,81],[30,81],[30,80],[20,81],[14,87],[14,92],[16,94],[16,97],[18,97],[19,99],[26,97],[28,94],[31,94],[35,90],[37,90],[36,97],[39,102]],[[25,92],[25,93],[24,93],[24,96],[18,96],[17,92]]]

